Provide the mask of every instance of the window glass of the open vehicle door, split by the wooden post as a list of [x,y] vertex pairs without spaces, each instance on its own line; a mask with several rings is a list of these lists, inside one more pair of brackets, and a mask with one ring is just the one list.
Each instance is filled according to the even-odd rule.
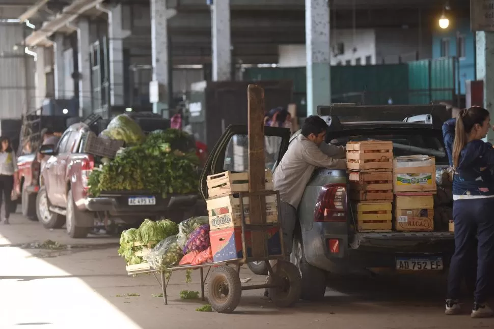
[[[272,170],[280,155],[282,138],[278,136],[264,137],[264,167]],[[249,167],[249,143],[247,135],[234,135],[228,142],[225,151],[224,170],[243,172]]]

